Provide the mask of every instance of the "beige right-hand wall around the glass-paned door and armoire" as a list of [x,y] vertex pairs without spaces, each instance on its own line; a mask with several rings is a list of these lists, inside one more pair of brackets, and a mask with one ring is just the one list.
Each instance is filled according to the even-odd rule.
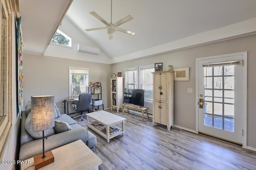
[[[134,61],[112,65],[112,72],[122,72],[124,68],[144,66],[154,63],[164,63],[164,70],[168,65],[177,67],[190,67],[190,81],[174,82],[174,125],[186,129],[196,130],[196,58],[223,55],[229,53],[248,52],[248,83],[247,83],[247,145],[256,148],[256,35],[221,41],[200,47],[174,51]],[[188,93],[187,88],[193,92]],[[152,107],[149,105],[149,107]]]

